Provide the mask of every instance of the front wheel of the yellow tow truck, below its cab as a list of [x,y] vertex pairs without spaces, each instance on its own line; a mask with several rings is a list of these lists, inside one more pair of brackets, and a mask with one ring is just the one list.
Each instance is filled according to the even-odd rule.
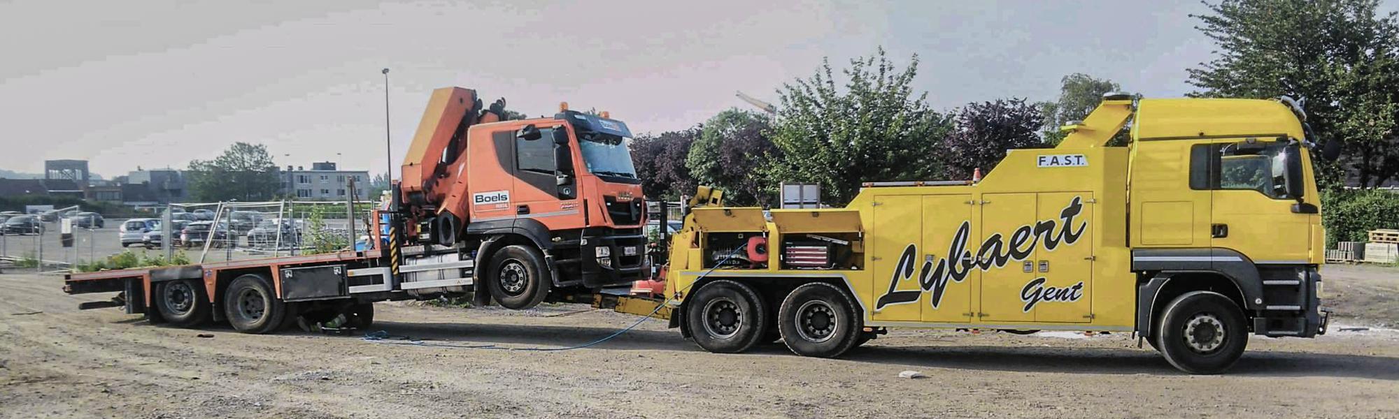
[[1156,348],[1165,360],[1191,374],[1219,374],[1234,366],[1248,346],[1244,313],[1228,297],[1188,292],[1165,306]]

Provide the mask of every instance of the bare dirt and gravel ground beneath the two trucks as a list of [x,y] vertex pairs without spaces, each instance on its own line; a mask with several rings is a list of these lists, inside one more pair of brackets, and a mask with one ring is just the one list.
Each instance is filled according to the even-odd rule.
[[[0,275],[3,418],[1399,416],[1392,330],[1254,337],[1230,373],[1186,376],[1125,335],[1065,332],[898,330],[842,359],[797,358],[782,344],[706,353],[658,320],[558,352],[243,335],[151,325],[119,309],[78,311],[78,302],[109,295],[69,296],[60,284]],[[576,304],[376,306],[375,328],[448,345],[561,348],[637,320]],[[900,378],[904,370],[926,378]]]

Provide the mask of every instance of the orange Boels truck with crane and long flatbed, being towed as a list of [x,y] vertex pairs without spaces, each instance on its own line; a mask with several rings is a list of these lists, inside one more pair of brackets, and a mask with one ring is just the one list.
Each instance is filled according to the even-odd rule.
[[368,250],[71,274],[64,291],[122,292],[84,307],[262,334],[301,317],[367,327],[381,300],[527,309],[649,275],[627,124],[567,103],[553,117],[504,115],[504,99],[434,91]]

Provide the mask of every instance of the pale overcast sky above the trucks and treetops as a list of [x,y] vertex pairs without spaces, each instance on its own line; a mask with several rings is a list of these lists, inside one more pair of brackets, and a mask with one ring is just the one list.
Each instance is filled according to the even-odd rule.
[[[248,6],[256,4],[256,6]],[[693,126],[884,46],[922,59],[940,109],[1052,99],[1088,73],[1147,96],[1209,60],[1198,1],[0,1],[0,168],[88,159],[104,176],[185,168],[235,141],[277,163],[381,173],[390,67],[395,166],[434,88],[558,102],[632,131]],[[341,152],[337,156],[336,152]],[[395,169],[397,172],[397,169]]]

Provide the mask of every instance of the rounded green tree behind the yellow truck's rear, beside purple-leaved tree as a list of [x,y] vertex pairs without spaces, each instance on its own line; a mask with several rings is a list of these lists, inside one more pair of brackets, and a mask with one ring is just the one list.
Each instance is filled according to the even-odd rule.
[[725,190],[726,203],[772,204],[778,183],[764,168],[782,161],[782,151],[772,145],[768,128],[767,115],[739,109],[719,112],[702,124],[686,168],[697,183]]

